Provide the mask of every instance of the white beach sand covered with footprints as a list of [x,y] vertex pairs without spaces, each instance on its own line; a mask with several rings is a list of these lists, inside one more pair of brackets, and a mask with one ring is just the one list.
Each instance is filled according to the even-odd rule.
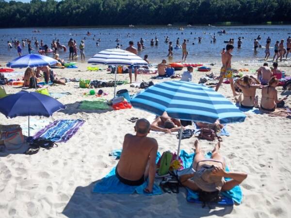
[[[2,63],[3,65],[3,63]],[[88,72],[86,63],[78,63],[78,69],[55,69],[61,77],[113,80],[106,71]],[[259,64],[244,66],[234,63],[234,68],[257,69]],[[105,68],[105,66],[101,66]],[[218,74],[220,65],[213,72]],[[291,74],[290,67],[283,69]],[[194,72],[194,82],[204,75]],[[152,75],[138,76],[138,80],[149,81]],[[118,75],[128,79],[128,74]],[[164,80],[153,80],[155,83]],[[248,178],[242,183],[243,202],[239,206],[214,210],[186,202],[186,194],[180,188],[179,194],[163,194],[146,197],[142,195],[92,194],[93,183],[106,175],[117,161],[108,156],[113,149],[122,147],[126,133],[134,133],[130,117],[148,118],[150,113],[140,109],[118,111],[81,111],[77,109],[82,100],[98,97],[84,96],[89,89],[80,89],[78,83],[49,87],[49,92],[70,92],[59,99],[67,105],[64,111],[54,113],[50,118],[83,119],[85,124],[66,143],[51,150],[41,149],[38,154],[0,153],[0,217],[1,218],[97,218],[97,217],[221,217],[227,218],[288,218],[291,217],[291,120],[283,117],[269,117],[267,114],[246,113],[244,123],[227,126],[230,137],[223,137],[221,153],[233,171],[245,171]],[[8,93],[19,88],[6,86]],[[128,89],[130,93],[140,90],[129,84],[118,86],[117,90]],[[96,89],[97,91],[98,89]],[[113,88],[104,88],[105,96],[113,96]],[[32,90],[33,91],[33,90]],[[229,85],[219,90],[231,97]],[[278,88],[281,93],[281,88]],[[258,91],[260,95],[260,91]],[[291,98],[290,98],[291,99]],[[287,104],[291,106],[290,99]],[[23,124],[27,117],[6,119],[0,114],[0,124]],[[159,143],[159,151],[176,151],[176,135],[151,133]],[[191,152],[194,138],[182,140],[181,148]],[[214,142],[200,141],[203,150],[210,151]]]

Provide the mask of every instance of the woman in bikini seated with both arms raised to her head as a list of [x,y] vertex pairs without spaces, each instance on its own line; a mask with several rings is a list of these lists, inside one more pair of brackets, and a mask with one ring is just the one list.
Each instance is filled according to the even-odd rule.
[[[252,85],[252,80],[256,82],[256,85]],[[240,103],[242,108],[252,109],[258,105],[258,96],[256,96],[256,90],[260,87],[260,82],[253,76],[244,76],[235,81],[235,86],[242,90],[242,93],[236,97],[236,101]],[[255,97],[256,96],[256,97]]]

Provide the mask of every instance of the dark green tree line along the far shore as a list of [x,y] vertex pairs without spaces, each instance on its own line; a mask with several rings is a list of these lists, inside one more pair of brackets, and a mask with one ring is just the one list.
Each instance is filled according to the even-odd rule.
[[291,22],[291,0],[0,0],[0,27]]

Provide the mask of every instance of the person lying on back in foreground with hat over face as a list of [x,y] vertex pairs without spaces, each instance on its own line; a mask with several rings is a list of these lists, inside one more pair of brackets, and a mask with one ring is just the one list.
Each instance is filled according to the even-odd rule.
[[[227,191],[240,185],[246,179],[245,172],[226,172],[225,158],[219,153],[220,142],[218,142],[210,159],[202,154],[198,141],[195,140],[195,156],[192,168],[178,172],[178,179],[183,186],[194,191]],[[230,180],[225,181],[225,177]]]

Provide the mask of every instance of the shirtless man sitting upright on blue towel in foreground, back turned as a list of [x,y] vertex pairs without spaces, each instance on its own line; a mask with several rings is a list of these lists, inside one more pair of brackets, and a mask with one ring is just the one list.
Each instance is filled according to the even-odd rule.
[[158,142],[147,137],[150,124],[146,119],[139,119],[134,130],[136,135],[126,134],[122,153],[116,166],[115,174],[120,182],[129,186],[140,186],[149,179],[145,191],[153,190],[156,173]]

